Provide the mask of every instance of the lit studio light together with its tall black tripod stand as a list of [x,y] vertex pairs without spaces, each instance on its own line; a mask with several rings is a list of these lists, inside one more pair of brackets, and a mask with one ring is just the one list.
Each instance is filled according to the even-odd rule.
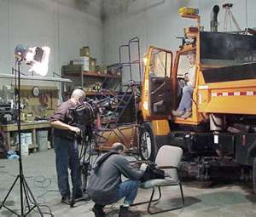
[[[45,47],[46,48],[46,47]],[[44,65],[40,64],[40,62],[45,63],[45,66],[48,66],[48,60],[49,60],[49,48],[47,47],[48,52],[44,53],[43,49],[40,48],[34,48],[34,49],[26,49],[26,47],[23,47],[21,45],[18,45],[15,48],[15,56],[16,56],[16,61],[15,61],[15,65],[18,64],[18,70],[15,70],[15,74],[18,74],[18,89],[17,89],[17,95],[18,95],[18,122],[17,122],[17,126],[18,126],[18,138],[19,138],[19,142],[18,142],[18,148],[19,148],[19,174],[16,176],[15,181],[13,183],[13,185],[10,187],[9,191],[7,192],[7,195],[3,198],[3,202],[0,205],[0,209],[1,208],[6,208],[8,209],[12,214],[15,214],[17,216],[20,217],[25,217],[27,216],[27,214],[30,214],[32,212],[33,209],[38,208],[38,213],[40,214],[40,216],[43,216],[43,213],[41,211],[41,208],[39,208],[39,205],[36,201],[36,198],[33,196],[31,189],[29,188],[29,186],[27,185],[25,176],[23,174],[23,167],[22,167],[22,155],[21,155],[21,127],[20,127],[20,65],[21,65],[21,61],[22,60],[29,60],[31,61],[32,65],[34,66],[38,66],[39,68],[42,68]],[[29,55],[27,55],[29,54]],[[40,57],[41,59],[38,59],[38,57]],[[43,61],[44,60],[44,61]],[[39,63],[39,64],[38,64]],[[47,73],[48,68],[45,67],[44,68],[44,73]],[[43,73],[42,73],[43,74]],[[7,198],[9,197],[9,194],[11,193],[11,191],[13,191],[16,183],[18,182],[18,180],[20,180],[20,214],[18,214],[17,212],[15,212],[15,210],[9,208],[5,203],[7,201]]]

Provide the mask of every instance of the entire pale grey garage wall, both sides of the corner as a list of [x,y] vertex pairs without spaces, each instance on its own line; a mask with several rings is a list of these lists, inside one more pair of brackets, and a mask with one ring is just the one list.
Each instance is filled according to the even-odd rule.
[[[224,0],[0,0],[0,73],[10,73],[18,43],[49,45],[49,76],[79,56],[79,48],[90,46],[98,62],[118,62],[119,45],[140,37],[141,54],[149,45],[177,49],[183,27],[194,22],[182,19],[177,11],[184,6],[200,9],[201,24],[210,29],[214,4]],[[230,0],[240,26],[256,26],[256,1]],[[103,22],[102,22],[103,19]],[[224,9],[219,12],[223,30]],[[102,31],[103,29],[103,31]],[[103,52],[102,52],[103,51]],[[26,71],[26,68],[23,67]],[[129,76],[125,74],[125,81]],[[3,79],[2,83],[3,83]],[[1,81],[0,81],[1,83]],[[45,84],[44,84],[45,85]]]

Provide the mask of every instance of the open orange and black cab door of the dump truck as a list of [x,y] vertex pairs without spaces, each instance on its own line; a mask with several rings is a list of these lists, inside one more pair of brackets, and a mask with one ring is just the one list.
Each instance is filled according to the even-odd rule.
[[150,47],[144,58],[144,120],[167,119],[172,112],[172,51]]

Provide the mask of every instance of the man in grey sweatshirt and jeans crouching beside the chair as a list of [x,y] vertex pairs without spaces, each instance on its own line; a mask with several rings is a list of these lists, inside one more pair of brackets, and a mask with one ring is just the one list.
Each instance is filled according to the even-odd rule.
[[[96,160],[91,170],[87,192],[95,202],[93,212],[96,217],[103,217],[105,205],[118,202],[125,197],[124,204],[120,206],[119,217],[139,216],[130,210],[130,205],[137,197],[139,179],[143,171],[132,168],[123,156],[125,146],[114,143],[111,151]],[[121,175],[129,180],[122,182]]]

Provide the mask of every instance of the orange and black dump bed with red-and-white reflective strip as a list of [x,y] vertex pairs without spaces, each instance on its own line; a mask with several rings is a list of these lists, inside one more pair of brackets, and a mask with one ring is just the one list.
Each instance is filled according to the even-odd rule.
[[256,37],[200,32],[199,112],[256,114]]

